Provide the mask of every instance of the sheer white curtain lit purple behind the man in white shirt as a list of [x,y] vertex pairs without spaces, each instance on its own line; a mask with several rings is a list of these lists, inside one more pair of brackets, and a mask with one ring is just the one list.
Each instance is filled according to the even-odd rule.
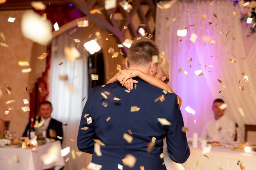
[[[209,5],[210,2],[213,4]],[[159,2],[159,5],[167,3]],[[173,18],[176,18],[174,22]],[[239,19],[238,5],[234,6],[229,0],[181,0],[169,9],[157,8],[156,42],[160,51],[166,51],[171,62],[169,85],[183,100],[181,110],[184,124],[189,127],[189,137],[193,132],[200,133],[204,124],[213,117],[211,106],[216,98],[224,99],[228,105],[225,115],[235,121],[242,132],[244,124],[256,124],[256,42],[252,51],[245,54]],[[177,30],[185,27],[189,28],[187,35],[178,37]],[[189,40],[192,33],[198,36],[195,43]],[[248,58],[241,60],[246,55]],[[189,62],[189,58],[193,61]],[[236,63],[227,59],[236,60]],[[180,68],[183,71],[179,73]],[[202,70],[203,75],[195,75],[196,70]],[[242,72],[249,82],[243,81],[245,75]],[[222,83],[218,79],[222,79]],[[227,88],[219,93],[222,85]],[[240,92],[239,86],[242,85],[244,91]],[[186,106],[193,108],[195,115],[186,112]]]

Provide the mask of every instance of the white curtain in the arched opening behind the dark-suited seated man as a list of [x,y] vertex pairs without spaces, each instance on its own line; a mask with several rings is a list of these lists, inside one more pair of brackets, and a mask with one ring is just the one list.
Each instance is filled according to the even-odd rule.
[[[80,38],[82,41],[82,39]],[[88,95],[88,71],[87,57],[88,52],[84,51],[83,44],[79,44],[78,50],[81,57],[75,62],[65,59],[64,48],[66,46],[78,44],[74,42],[74,38],[70,38],[65,33],[57,36],[52,41],[51,54],[51,81],[50,81],[50,101],[53,105],[52,117],[67,123],[63,126],[63,148],[70,147],[70,150],[79,151],[76,146],[76,138],[81,119],[83,106]],[[60,62],[62,65],[59,65]],[[68,79],[61,80],[60,75],[67,75]],[[85,97],[82,102],[83,97]],[[72,141],[74,139],[75,141]],[[76,159],[72,158],[72,154],[65,156],[69,160],[66,162],[65,170],[80,170],[91,161],[89,154],[83,153],[80,157],[77,154]]]

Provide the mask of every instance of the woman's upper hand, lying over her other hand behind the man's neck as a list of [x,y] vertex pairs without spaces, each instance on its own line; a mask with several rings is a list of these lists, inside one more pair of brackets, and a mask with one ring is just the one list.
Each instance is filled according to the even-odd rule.
[[[121,70],[119,73],[117,73],[117,81],[119,81],[123,86],[127,79],[130,79],[132,77],[136,77],[139,73],[139,70],[137,69],[128,69],[128,70]],[[130,80],[130,82],[132,82]]]

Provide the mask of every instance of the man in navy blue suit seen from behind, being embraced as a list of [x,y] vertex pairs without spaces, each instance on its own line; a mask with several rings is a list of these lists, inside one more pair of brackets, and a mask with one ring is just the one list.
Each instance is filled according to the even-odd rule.
[[[153,41],[135,40],[128,49],[128,67],[153,76],[153,55],[159,56]],[[176,95],[135,80],[138,84],[132,91],[119,82],[90,91],[79,126],[79,150],[92,154],[92,163],[101,170],[165,170],[166,137],[171,159],[184,163],[190,150]]]

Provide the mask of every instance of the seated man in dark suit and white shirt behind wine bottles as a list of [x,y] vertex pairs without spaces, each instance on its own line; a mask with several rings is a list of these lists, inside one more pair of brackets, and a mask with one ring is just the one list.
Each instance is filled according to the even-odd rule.
[[[52,114],[52,104],[49,101],[43,101],[39,104],[39,115],[43,117],[45,123],[43,124],[43,131],[46,131],[46,137],[50,139],[59,140],[62,143],[62,139],[57,138],[63,137],[62,123],[51,117]],[[38,121],[41,120],[41,117]],[[27,131],[30,127],[30,121],[23,133],[23,137],[27,137]]]

